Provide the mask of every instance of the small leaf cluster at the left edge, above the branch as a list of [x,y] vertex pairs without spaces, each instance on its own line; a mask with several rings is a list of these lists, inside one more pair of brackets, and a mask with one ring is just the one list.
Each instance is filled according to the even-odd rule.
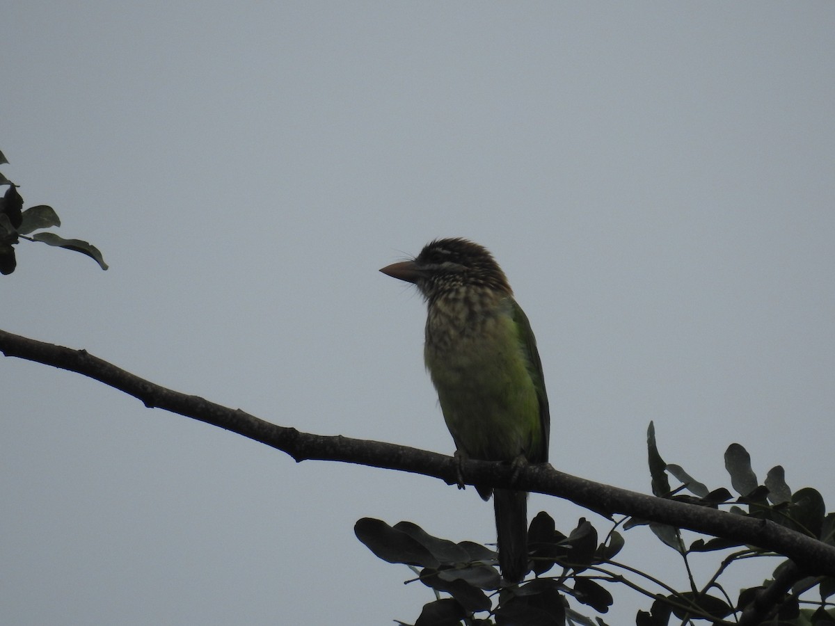
[[[0,164],[8,160],[0,152]],[[57,246],[65,250],[74,250],[94,259],[102,270],[107,270],[99,249],[87,241],[78,239],[64,239],[53,232],[35,233],[61,225],[61,220],[52,207],[46,204],[29,207],[23,210],[23,198],[18,193],[18,185],[0,174],[0,186],[8,185],[8,189],[0,198],[0,274],[11,274],[18,266],[14,246],[21,239],[40,241],[47,245]]]

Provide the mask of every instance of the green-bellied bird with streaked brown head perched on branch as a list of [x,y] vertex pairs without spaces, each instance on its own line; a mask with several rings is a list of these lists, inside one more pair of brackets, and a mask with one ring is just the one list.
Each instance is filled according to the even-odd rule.
[[[437,239],[383,274],[417,286],[427,304],[423,360],[458,460],[548,462],[550,415],[542,362],[528,317],[493,255],[460,237]],[[502,578],[529,572],[527,492],[493,493]]]

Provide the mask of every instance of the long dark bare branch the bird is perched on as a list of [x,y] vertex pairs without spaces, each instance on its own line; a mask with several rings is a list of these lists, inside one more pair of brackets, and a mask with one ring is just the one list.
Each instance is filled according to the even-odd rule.
[[[314,435],[299,432],[296,428],[276,426],[240,409],[166,389],[85,350],[55,346],[0,331],[0,351],[6,356],[17,356],[89,376],[138,398],[145,406],[179,413],[237,432],[286,452],[296,462],[316,459],[357,463],[423,474],[440,478],[448,484],[454,484],[458,479],[457,465],[452,457],[392,443]],[[506,463],[468,461],[463,464],[463,473],[468,484],[478,482],[493,487],[514,487],[544,493],[565,498],[606,517],[620,513],[728,538],[791,558],[804,573],[835,575],[835,546],[766,520],[630,492],[558,472],[549,465],[519,469]]]

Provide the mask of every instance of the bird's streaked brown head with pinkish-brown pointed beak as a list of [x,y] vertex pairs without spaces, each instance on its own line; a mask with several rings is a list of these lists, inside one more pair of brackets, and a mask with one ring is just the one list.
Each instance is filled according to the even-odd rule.
[[434,240],[414,259],[387,265],[380,271],[414,283],[430,302],[469,288],[513,294],[502,268],[487,248],[461,238]]

